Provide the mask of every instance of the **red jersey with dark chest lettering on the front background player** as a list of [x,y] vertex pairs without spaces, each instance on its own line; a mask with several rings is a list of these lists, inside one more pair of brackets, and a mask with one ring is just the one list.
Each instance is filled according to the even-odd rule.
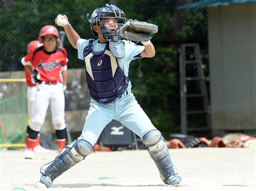
[[57,47],[53,52],[46,52],[43,46],[25,56],[25,62],[30,62],[38,73],[40,81],[62,82],[62,70],[67,68],[67,53],[63,47]]

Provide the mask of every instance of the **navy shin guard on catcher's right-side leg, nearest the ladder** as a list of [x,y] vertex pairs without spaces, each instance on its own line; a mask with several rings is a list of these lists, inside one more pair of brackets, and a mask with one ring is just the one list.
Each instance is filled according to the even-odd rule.
[[147,132],[143,137],[143,143],[148,148],[151,158],[157,165],[160,172],[160,178],[167,185],[176,185],[181,181],[178,176],[176,167],[173,166],[172,160],[161,133],[158,130]]

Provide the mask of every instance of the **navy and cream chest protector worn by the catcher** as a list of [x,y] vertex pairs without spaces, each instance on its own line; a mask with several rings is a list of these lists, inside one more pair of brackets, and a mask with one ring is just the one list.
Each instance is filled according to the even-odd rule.
[[90,40],[83,50],[87,85],[93,99],[101,103],[110,103],[120,97],[128,87],[129,77],[126,77],[117,59],[113,56],[107,43],[100,52],[92,50]]

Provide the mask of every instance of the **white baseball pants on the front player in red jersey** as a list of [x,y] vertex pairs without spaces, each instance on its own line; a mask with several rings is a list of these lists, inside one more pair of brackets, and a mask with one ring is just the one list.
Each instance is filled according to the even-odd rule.
[[50,104],[52,123],[55,130],[65,129],[63,84],[37,84],[36,88],[35,116],[31,119],[30,128],[34,131],[41,130],[48,105]]

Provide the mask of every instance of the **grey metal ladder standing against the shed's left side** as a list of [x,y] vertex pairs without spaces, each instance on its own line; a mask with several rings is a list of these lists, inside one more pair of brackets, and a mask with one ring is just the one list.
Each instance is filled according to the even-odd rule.
[[[192,51],[191,57],[194,58],[187,60],[186,53],[187,49]],[[196,67],[196,75],[187,76],[187,66]],[[181,133],[187,134],[188,131],[201,131],[201,130],[211,130],[210,123],[210,105],[208,101],[208,94],[206,88],[206,77],[203,71],[203,64],[201,60],[201,53],[199,44],[182,44],[180,48],[179,56],[179,70],[180,70],[180,119],[181,119]],[[188,86],[193,86],[188,84],[188,82],[193,82],[198,84],[199,92],[193,93],[188,92]],[[191,88],[191,87],[190,87]],[[192,87],[193,89],[194,87]],[[196,88],[194,88],[196,89]],[[203,109],[193,108],[189,111],[187,110],[187,101],[188,99],[199,98],[203,102]],[[191,100],[190,100],[191,103]],[[188,115],[197,115],[203,114],[206,126],[198,128],[188,128]]]

